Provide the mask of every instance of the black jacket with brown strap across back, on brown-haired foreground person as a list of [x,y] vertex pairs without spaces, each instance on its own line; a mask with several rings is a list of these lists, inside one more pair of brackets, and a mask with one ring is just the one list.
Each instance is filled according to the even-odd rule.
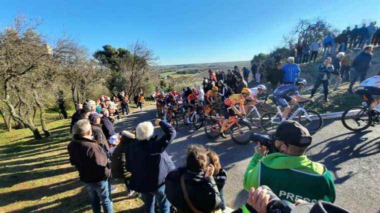
[[178,168],[167,175],[165,194],[167,200],[179,213],[192,213],[183,197],[180,183],[182,175],[184,175],[188,197],[198,211],[210,213],[219,209],[220,197],[214,178],[206,179],[203,173],[194,174],[186,168]]

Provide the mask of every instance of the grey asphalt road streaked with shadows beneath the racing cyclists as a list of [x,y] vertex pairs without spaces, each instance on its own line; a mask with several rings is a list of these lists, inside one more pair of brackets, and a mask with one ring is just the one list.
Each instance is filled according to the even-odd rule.
[[[137,112],[117,124],[118,130],[132,128],[142,121],[153,121],[153,106],[146,111]],[[160,130],[156,129],[160,134]],[[371,127],[366,131],[352,133],[346,130],[340,120],[324,121],[323,128],[313,135],[307,156],[324,164],[335,180],[336,201],[351,212],[380,211],[380,131]],[[195,131],[184,125],[178,128],[175,141],[167,148],[178,167],[183,165],[185,147],[198,143],[210,147],[218,153],[221,165],[227,171],[225,188],[227,206],[240,207],[247,198],[242,180],[245,168],[253,154],[254,143],[236,145],[230,139],[210,140],[203,128]]]

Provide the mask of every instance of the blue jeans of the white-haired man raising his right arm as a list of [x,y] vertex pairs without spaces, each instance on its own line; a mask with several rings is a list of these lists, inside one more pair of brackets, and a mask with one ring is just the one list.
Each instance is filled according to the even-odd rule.
[[165,185],[158,188],[155,192],[142,193],[142,200],[145,204],[145,213],[154,213],[154,203],[158,203],[160,213],[170,213],[170,203],[165,196]]

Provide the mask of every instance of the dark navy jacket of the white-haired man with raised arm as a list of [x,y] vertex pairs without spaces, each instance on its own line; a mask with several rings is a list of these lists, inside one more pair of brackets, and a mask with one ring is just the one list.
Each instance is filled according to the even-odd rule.
[[126,170],[132,176],[129,189],[139,193],[156,191],[164,184],[166,175],[175,169],[165,149],[174,140],[175,129],[167,122],[160,121],[165,135],[149,140],[135,140],[128,144],[125,152]]

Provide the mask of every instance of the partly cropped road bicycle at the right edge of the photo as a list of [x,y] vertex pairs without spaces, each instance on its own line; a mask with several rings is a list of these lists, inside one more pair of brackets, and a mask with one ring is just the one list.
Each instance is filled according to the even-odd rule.
[[380,113],[373,110],[370,102],[364,101],[362,107],[351,107],[341,115],[341,123],[348,130],[358,132],[369,126],[380,124]]

